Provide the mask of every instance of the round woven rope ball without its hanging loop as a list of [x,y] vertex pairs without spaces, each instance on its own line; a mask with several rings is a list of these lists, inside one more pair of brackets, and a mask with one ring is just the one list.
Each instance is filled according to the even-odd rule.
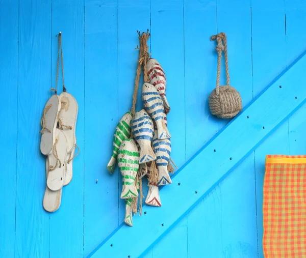
[[214,89],[208,102],[211,113],[218,118],[233,118],[242,110],[240,93],[230,85],[219,87],[219,94]]

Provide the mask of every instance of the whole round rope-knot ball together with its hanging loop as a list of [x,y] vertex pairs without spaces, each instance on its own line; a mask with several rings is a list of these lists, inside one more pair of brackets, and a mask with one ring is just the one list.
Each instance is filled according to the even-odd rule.
[[[242,110],[242,100],[240,93],[230,86],[226,35],[221,32],[217,35],[213,35],[211,40],[217,41],[216,50],[218,52],[218,66],[216,89],[214,89],[209,96],[209,107],[211,113],[218,118],[233,118]],[[226,85],[220,86],[222,51],[224,51]]]

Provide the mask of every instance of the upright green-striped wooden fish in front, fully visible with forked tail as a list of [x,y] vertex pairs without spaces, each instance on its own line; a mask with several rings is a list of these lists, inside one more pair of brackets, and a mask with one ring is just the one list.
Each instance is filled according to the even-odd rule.
[[137,197],[135,179],[139,169],[139,152],[134,139],[122,141],[117,162],[122,175],[121,199]]

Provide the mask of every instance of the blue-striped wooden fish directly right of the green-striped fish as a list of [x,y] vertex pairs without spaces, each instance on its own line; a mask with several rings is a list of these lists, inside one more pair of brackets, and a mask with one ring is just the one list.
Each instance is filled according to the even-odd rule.
[[132,119],[132,134],[140,147],[139,164],[156,160],[151,147],[154,133],[153,122],[147,112],[142,109]]

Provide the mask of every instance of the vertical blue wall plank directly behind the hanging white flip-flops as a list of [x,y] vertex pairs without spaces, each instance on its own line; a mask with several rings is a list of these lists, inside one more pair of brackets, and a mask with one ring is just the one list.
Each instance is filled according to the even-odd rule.
[[[65,87],[78,102],[75,135],[80,153],[73,177],[63,188],[61,207],[50,214],[50,258],[83,257],[84,248],[84,3],[52,0],[52,87],[56,85],[59,32],[62,32]],[[61,67],[58,94],[62,93]],[[76,150],[77,152],[78,150]]]

